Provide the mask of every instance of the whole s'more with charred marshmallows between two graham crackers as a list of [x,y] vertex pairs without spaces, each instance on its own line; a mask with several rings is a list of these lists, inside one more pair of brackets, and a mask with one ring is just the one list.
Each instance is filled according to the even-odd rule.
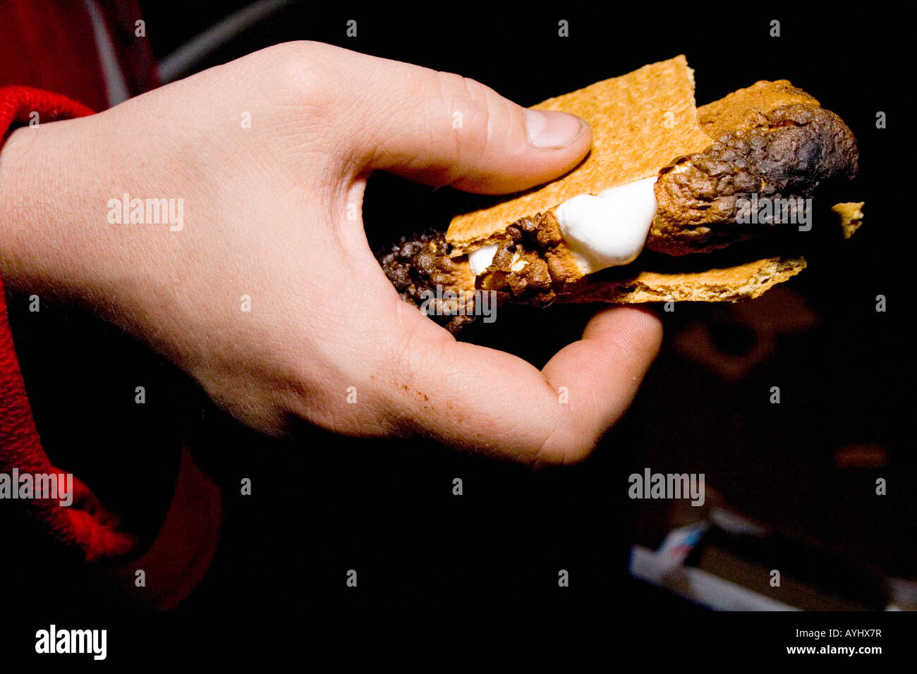
[[856,138],[787,80],[698,108],[679,55],[533,108],[589,122],[591,151],[575,169],[480,198],[445,232],[380,255],[403,299],[420,304],[436,288],[451,304],[438,309],[461,309],[450,329],[481,292],[537,306],[754,298],[805,268],[813,217],[830,227],[808,245],[862,222],[863,203],[834,199],[856,177]]

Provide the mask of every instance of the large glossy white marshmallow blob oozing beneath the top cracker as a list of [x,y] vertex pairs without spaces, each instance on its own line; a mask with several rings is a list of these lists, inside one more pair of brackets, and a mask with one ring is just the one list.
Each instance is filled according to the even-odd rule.
[[583,274],[636,260],[656,215],[655,183],[653,176],[558,206],[560,233]]

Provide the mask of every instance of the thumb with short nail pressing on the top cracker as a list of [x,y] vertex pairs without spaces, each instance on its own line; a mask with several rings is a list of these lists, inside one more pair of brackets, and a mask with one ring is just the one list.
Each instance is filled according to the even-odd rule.
[[349,94],[337,118],[357,172],[511,193],[558,178],[589,152],[591,128],[578,116],[526,109],[451,72],[336,51]]

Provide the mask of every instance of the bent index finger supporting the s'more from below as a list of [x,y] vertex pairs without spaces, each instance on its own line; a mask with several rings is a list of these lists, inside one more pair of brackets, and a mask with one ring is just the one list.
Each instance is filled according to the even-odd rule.
[[658,317],[645,309],[603,309],[539,371],[445,330],[423,332],[430,337],[397,359],[402,425],[533,466],[585,459],[633,401],[662,338]]

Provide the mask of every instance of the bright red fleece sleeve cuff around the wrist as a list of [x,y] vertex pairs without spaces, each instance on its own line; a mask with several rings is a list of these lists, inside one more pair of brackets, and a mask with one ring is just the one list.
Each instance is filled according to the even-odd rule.
[[[0,138],[17,124],[28,123],[38,113],[39,123],[92,115],[85,105],[58,94],[25,86],[0,87]],[[2,224],[0,224],[2,226]],[[13,334],[6,313],[6,295],[0,275],[0,473],[61,474],[41,447],[26,385],[19,370]],[[18,489],[17,484],[12,485]],[[62,543],[77,547],[87,561],[132,552],[137,541],[116,529],[108,514],[83,482],[73,479],[73,503],[59,500],[20,501],[45,532]]]

